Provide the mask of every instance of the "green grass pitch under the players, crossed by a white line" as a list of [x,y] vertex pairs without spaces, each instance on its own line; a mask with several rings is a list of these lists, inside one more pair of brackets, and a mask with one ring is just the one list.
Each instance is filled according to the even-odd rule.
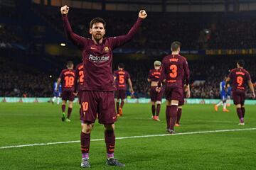
[[[150,119],[149,104],[125,104],[116,137],[167,134],[165,107],[161,122],[156,122]],[[234,106],[223,113],[211,105],[186,105],[176,132],[256,128],[255,111],[256,106],[247,106],[245,126],[239,126]],[[70,123],[60,117],[60,106],[50,103],[0,103],[0,169],[81,169],[80,142],[1,148],[79,141],[78,105]],[[104,139],[102,125],[95,123],[91,139]],[[104,140],[90,143],[91,169],[256,169],[256,129],[117,140],[115,157],[126,164],[124,168],[105,165],[105,152]]]

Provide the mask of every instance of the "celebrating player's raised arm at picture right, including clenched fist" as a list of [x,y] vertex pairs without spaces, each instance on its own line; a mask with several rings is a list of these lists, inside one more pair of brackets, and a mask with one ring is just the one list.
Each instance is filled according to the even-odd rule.
[[139,26],[141,26],[142,21],[146,18],[146,16],[147,16],[146,11],[144,10],[139,11],[139,17],[136,23],[134,23],[134,26],[132,26],[132,28],[129,30],[129,32],[126,35],[120,35],[114,38],[110,38],[110,40],[112,40],[113,42],[112,48],[114,49],[115,47],[122,46],[126,42],[129,42],[130,40],[132,40],[134,35],[139,31]]

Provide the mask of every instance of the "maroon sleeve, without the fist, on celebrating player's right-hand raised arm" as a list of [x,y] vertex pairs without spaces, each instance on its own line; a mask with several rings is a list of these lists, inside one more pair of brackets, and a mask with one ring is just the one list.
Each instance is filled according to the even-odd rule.
[[125,43],[129,42],[130,40],[132,40],[134,35],[139,31],[139,26],[141,26],[142,20],[143,20],[142,18],[138,18],[137,22],[134,23],[134,26],[132,26],[132,28],[129,30],[129,32],[126,35],[120,35],[117,37],[109,38],[112,49],[116,47],[120,47]]

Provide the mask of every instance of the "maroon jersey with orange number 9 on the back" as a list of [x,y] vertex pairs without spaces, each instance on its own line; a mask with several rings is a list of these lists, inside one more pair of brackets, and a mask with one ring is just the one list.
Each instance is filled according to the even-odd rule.
[[251,80],[250,73],[245,69],[236,68],[232,69],[228,75],[232,81],[232,91],[245,91],[245,84]]

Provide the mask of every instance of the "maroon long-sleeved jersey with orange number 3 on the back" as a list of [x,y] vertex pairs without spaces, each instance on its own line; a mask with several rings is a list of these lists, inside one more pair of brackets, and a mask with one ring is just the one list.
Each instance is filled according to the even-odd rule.
[[189,69],[185,57],[181,55],[167,55],[162,63],[159,86],[164,77],[168,87],[183,89],[183,84],[188,85]]

